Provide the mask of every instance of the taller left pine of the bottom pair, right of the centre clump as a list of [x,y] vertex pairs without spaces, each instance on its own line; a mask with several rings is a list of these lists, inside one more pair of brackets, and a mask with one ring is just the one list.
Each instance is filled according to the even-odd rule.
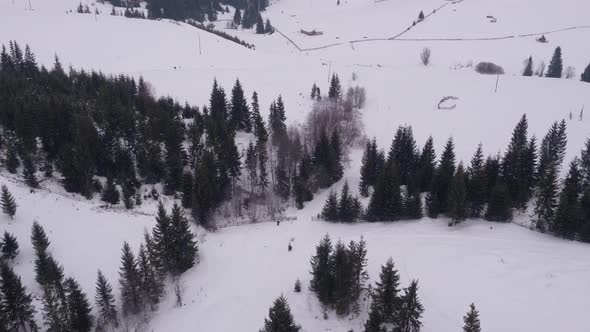
[[[395,323],[399,316],[399,275],[391,258],[384,266],[381,266],[379,280],[372,294],[371,313],[369,314],[369,321],[373,320],[371,322],[373,326],[380,326],[382,323]],[[371,319],[371,316],[374,318]],[[367,331],[366,325],[365,331]]]

